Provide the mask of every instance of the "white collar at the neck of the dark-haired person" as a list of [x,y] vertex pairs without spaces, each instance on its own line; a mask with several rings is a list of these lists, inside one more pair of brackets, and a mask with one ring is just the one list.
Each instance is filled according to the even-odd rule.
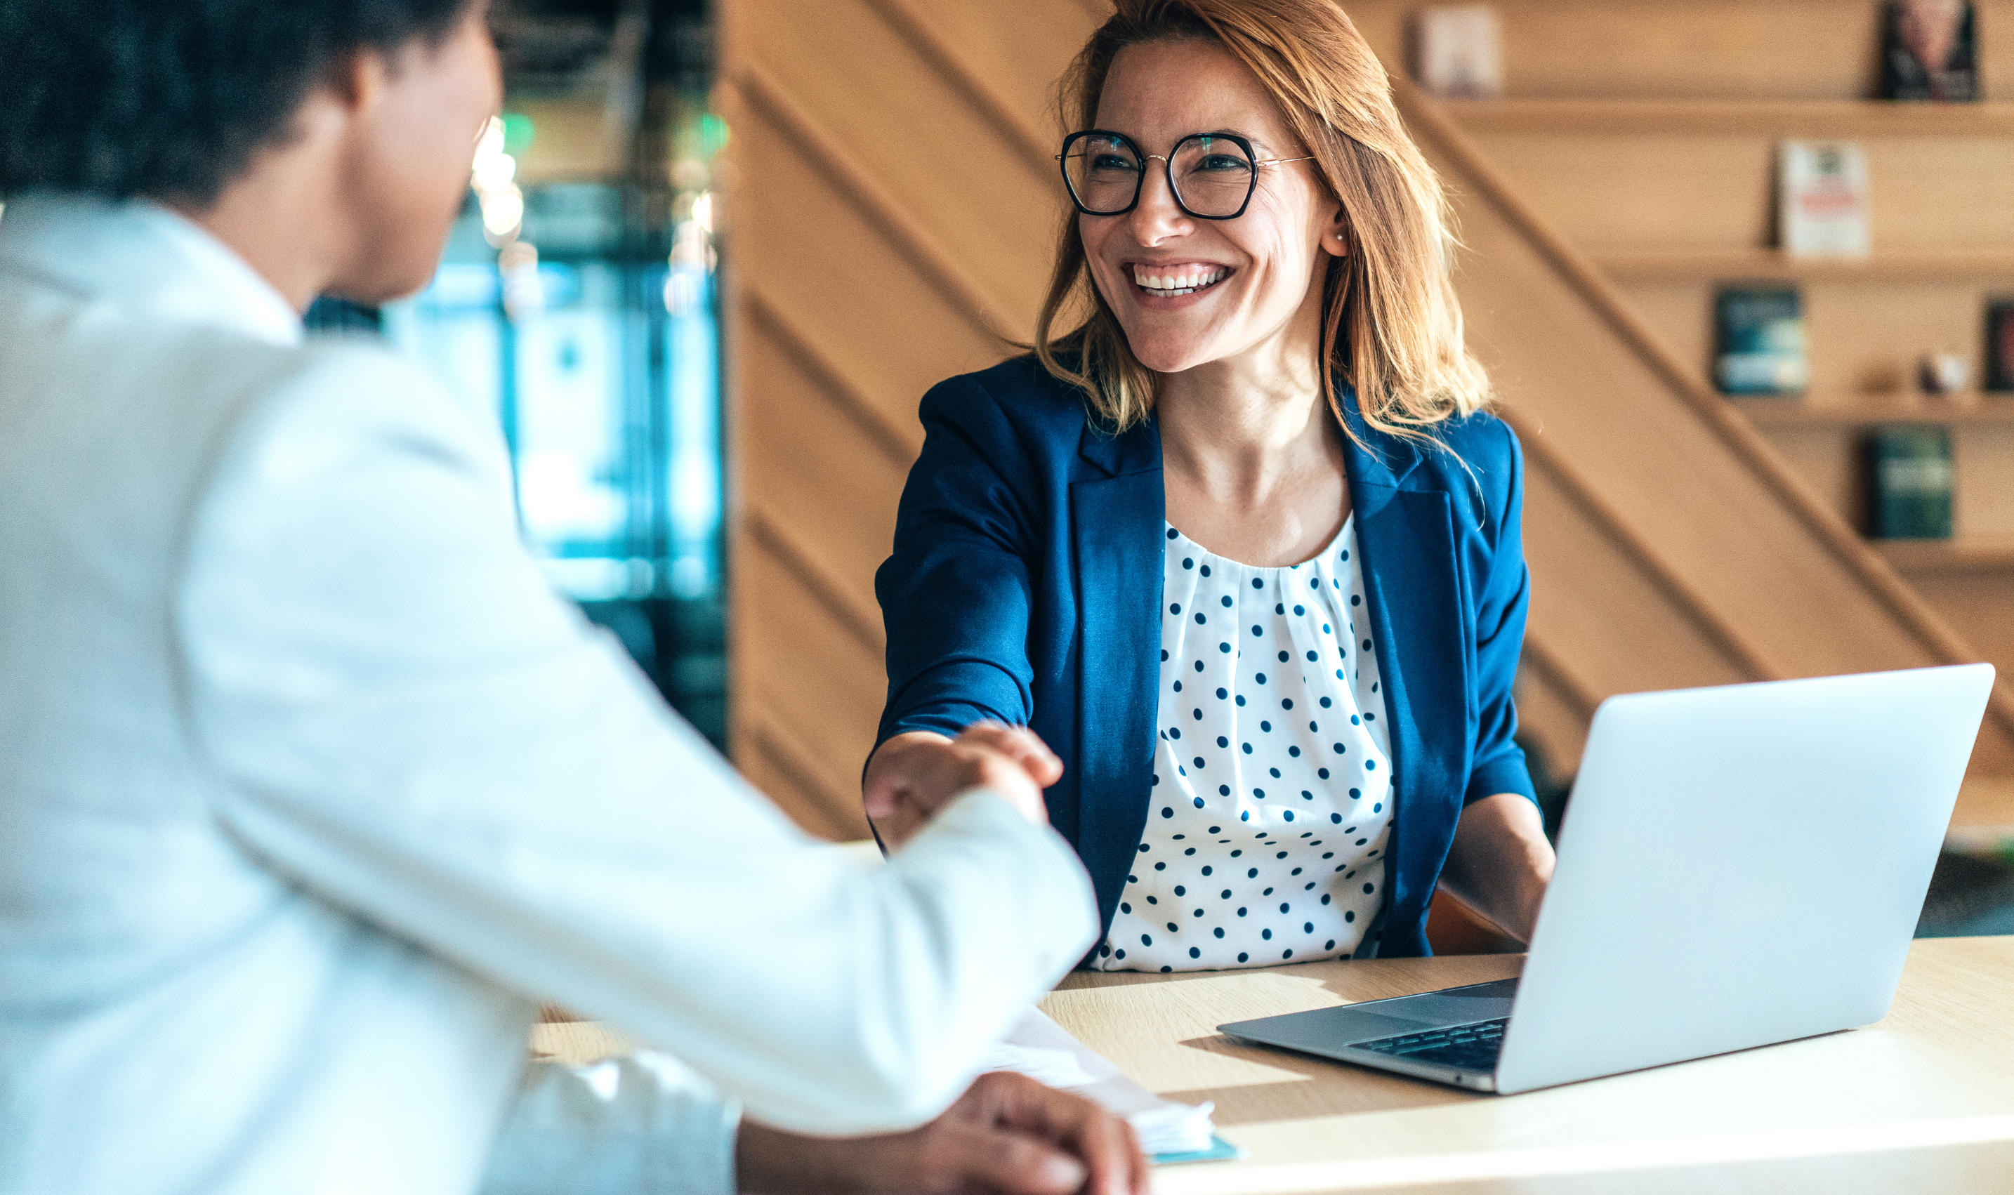
[[0,214],[0,272],[36,276],[149,320],[298,345],[300,314],[244,258],[149,200],[30,193]]

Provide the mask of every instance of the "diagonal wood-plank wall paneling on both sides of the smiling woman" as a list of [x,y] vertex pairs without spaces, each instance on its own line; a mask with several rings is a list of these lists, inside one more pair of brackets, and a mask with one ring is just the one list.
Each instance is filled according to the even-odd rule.
[[[1049,87],[1102,12],[723,4],[735,752],[814,832],[864,830],[884,685],[872,572],[920,443],[916,399],[1033,324],[1059,218]],[[1357,18],[1382,52],[1398,46],[1396,0]],[[1529,445],[1521,695],[1557,768],[1609,693],[1972,655],[1400,89],[1458,197],[1472,339]],[[2014,774],[2004,693],[1980,764]]]

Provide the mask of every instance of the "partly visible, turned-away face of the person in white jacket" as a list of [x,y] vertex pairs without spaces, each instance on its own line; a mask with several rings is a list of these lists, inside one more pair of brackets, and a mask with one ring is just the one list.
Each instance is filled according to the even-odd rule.
[[344,208],[365,252],[330,290],[373,302],[433,278],[469,189],[475,137],[503,103],[487,12],[475,0],[443,42],[415,42],[387,62],[344,169]]

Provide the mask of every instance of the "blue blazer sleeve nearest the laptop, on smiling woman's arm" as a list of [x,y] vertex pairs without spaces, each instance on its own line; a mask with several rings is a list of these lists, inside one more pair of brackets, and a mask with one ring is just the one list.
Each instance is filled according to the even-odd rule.
[[1525,766],[1525,752],[1513,740],[1517,703],[1510,695],[1519,655],[1525,649],[1525,613],[1531,605],[1531,570],[1525,566],[1525,451],[1506,423],[1490,419],[1490,431],[1500,435],[1504,445],[1502,468],[1494,478],[1498,484],[1490,486],[1492,478],[1484,476],[1488,512],[1482,526],[1484,532],[1494,532],[1494,542],[1484,554],[1486,566],[1474,578],[1476,744],[1462,804],[1498,792],[1519,792],[1533,802],[1539,800],[1531,770]]

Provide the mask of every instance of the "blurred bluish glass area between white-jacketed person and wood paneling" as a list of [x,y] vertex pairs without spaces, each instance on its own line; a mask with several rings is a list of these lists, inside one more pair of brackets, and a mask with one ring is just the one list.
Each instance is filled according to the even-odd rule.
[[497,8],[506,105],[439,274],[383,310],[324,298],[495,417],[526,540],[665,697],[727,746],[727,554],[709,109],[699,0]]

